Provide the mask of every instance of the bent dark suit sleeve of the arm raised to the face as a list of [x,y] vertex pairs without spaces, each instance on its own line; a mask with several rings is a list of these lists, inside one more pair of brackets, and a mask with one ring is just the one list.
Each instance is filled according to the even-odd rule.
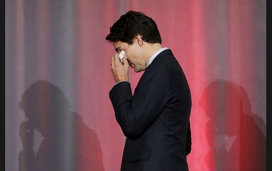
[[144,72],[133,96],[129,82],[113,86],[109,97],[116,121],[126,137],[140,135],[163,112],[168,102],[168,91],[168,73],[159,63]]

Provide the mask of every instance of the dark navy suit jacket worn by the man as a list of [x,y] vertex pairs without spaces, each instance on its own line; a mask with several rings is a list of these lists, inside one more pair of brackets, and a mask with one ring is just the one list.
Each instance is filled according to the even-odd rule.
[[122,81],[113,86],[109,97],[127,137],[121,171],[188,170],[191,93],[171,49],[155,57],[133,96],[130,83]]

